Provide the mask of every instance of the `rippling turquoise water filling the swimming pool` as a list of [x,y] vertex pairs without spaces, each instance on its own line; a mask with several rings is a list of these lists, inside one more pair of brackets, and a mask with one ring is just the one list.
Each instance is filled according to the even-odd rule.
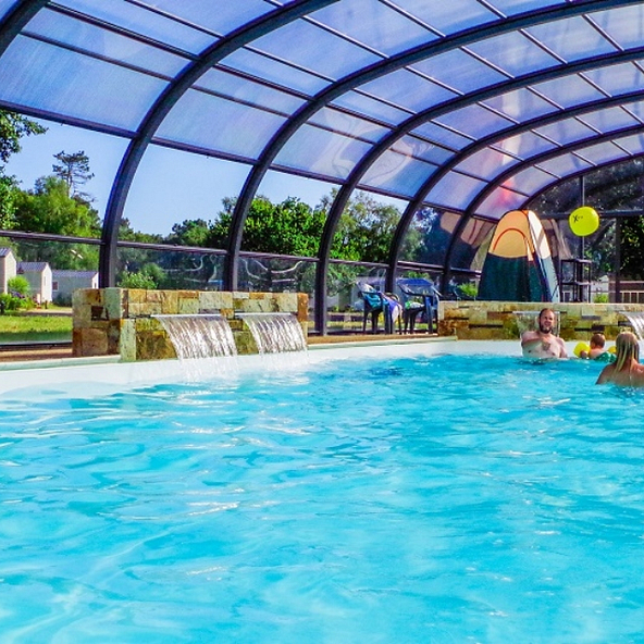
[[641,641],[644,392],[599,369],[361,359],[5,396],[2,640]]

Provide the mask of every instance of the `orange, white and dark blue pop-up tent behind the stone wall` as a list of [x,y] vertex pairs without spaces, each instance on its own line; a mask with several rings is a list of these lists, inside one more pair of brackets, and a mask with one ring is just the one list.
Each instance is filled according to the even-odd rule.
[[487,250],[479,299],[559,301],[559,285],[541,221],[531,210],[499,220]]

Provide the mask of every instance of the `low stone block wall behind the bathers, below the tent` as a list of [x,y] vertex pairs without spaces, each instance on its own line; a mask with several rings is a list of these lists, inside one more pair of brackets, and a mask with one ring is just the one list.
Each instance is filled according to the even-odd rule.
[[615,339],[620,331],[631,330],[621,311],[644,312],[644,305],[632,304],[442,301],[438,335],[456,335],[460,339],[518,339],[544,307],[558,313],[559,335],[565,340],[580,342],[589,342],[595,332]]

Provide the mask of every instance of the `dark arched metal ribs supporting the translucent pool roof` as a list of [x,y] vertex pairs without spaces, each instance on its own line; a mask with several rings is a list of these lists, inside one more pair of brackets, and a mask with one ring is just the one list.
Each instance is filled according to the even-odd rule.
[[[116,128],[101,128],[99,126],[92,126],[96,129],[102,129],[111,134],[119,134],[131,139],[127,150],[116,172],[103,221],[99,263],[101,286],[114,285],[116,248],[119,242],[117,230],[127,199],[127,194],[145,151],[147,150],[148,146],[153,143],[156,133],[172,108],[205,73],[207,73],[211,67],[221,62],[232,52],[251,44],[257,38],[260,38],[261,36],[264,36],[293,21],[308,16],[314,11],[336,2],[342,2],[342,0],[295,0],[294,2],[276,5],[275,9],[264,13],[260,17],[257,17],[236,28],[235,30],[224,35],[212,46],[205,49],[200,54],[193,57],[186,67],[175,78],[169,82],[164,91],[159,95],[157,100],[150,106],[147,113],[141,119],[136,132],[125,133],[117,132]],[[499,16],[498,20],[488,21],[486,23],[469,27],[448,36],[441,36],[437,34],[438,37],[436,40],[431,40],[430,42],[398,52],[394,55],[391,55],[389,58],[382,57],[383,60],[380,62],[371,63],[363,69],[359,69],[354,73],[339,78],[336,82],[330,83],[317,95],[312,96],[310,99],[307,99],[301,108],[296,110],[289,117],[287,117],[284,124],[278,127],[270,138],[263,150],[257,156],[257,161],[252,164],[252,169],[248,174],[234,210],[233,224],[225,260],[224,286],[228,289],[234,289],[237,287],[237,267],[240,255],[244,223],[252,199],[255,198],[262,179],[264,178],[268,171],[271,170],[272,164],[280,151],[290,140],[294,134],[296,134],[317,112],[331,104],[332,101],[370,81],[386,76],[387,74],[397,70],[401,70],[414,62],[425,61],[439,53],[463,48],[485,38],[499,36],[500,34],[518,32],[552,21],[580,16],[598,11],[610,10],[614,8],[641,4],[641,1],[635,2],[633,0],[578,0],[574,3],[570,2],[566,4],[538,8],[516,15],[510,15],[509,17]],[[28,22],[37,15],[38,11],[47,7],[54,7],[54,3],[47,0],[18,0],[15,2],[2,22],[0,22],[0,58],[11,45],[13,39],[16,38],[21,34],[21,30],[28,24]],[[454,110],[475,104],[476,102],[486,100],[488,98],[501,96],[511,90],[525,88],[535,83],[559,78],[566,75],[579,74],[583,71],[614,65],[620,62],[633,62],[643,55],[644,45],[627,50],[617,50],[611,53],[592,55],[583,60],[575,60],[574,62],[561,61],[561,64],[508,78],[507,81],[466,92],[462,96],[446,100],[443,103],[433,104],[426,110],[422,110],[413,114],[398,125],[389,127],[391,133],[374,144],[372,148],[362,157],[362,159],[356,163],[347,178],[339,183],[340,189],[338,190],[337,196],[331,206],[320,240],[320,249],[318,253],[318,270],[315,278],[317,327],[322,333],[325,332],[326,273],[331,261],[330,256],[332,240],[337,222],[339,221],[339,216],[342,215],[342,212],[344,211],[351,194],[360,187],[360,181],[367,171],[382,157],[382,154],[391,150],[392,146],[396,141],[398,141],[406,134],[412,132],[419,125],[426,123],[439,115],[447,114]],[[642,71],[642,67],[640,67],[640,70]],[[581,115],[595,110],[606,109],[612,106],[621,106],[640,99],[641,91],[636,91],[629,95],[614,97],[607,96],[605,99],[589,101],[586,103],[578,103],[569,108],[561,108],[559,111],[554,113],[547,113],[528,121],[517,122],[510,127],[474,140],[463,149],[455,151],[451,158],[439,165],[436,172],[421,185],[421,187],[417,190],[417,194],[412,196],[408,202],[408,207],[400,219],[391,246],[387,271],[387,284],[389,288],[393,286],[393,282],[395,280],[399,249],[405,238],[405,234],[412,221],[413,214],[419,208],[425,205],[425,198],[431,193],[433,187],[435,187],[441,182],[441,179],[445,177],[453,169],[457,168],[459,163],[463,162],[472,154],[483,150],[485,147],[494,144],[495,141],[513,136],[518,133],[527,132],[548,123],[562,121],[571,116]],[[0,107],[2,107],[1,102]],[[27,113],[28,111],[25,112]],[[36,113],[36,115],[39,114]],[[66,117],[64,115],[44,115],[53,119],[58,117],[61,122],[74,122],[72,117]],[[83,125],[83,123],[77,124]],[[469,205],[461,210],[463,214],[460,218],[459,224],[453,234],[450,244],[445,255],[445,265],[443,267],[444,272],[449,273],[451,269],[450,258],[455,240],[462,233],[462,230],[469,219],[475,214],[476,207],[485,199],[487,195],[496,189],[497,186],[501,185],[503,182],[508,177],[521,172],[525,168],[537,164],[540,161],[556,158],[572,150],[581,149],[584,146],[591,146],[603,140],[612,140],[619,136],[626,136],[624,133],[640,132],[643,128],[644,124],[634,127],[627,127],[621,131],[616,129],[609,133],[597,133],[596,136],[591,136],[587,139],[573,141],[568,145],[560,145],[555,150],[550,150],[542,154],[535,154],[533,157],[518,161],[518,163],[511,165],[505,172],[499,173],[493,181],[490,182],[490,185],[486,186],[485,189],[474,195],[474,197],[470,199]],[[624,159],[633,158],[637,154],[624,151],[623,159],[615,159],[611,161],[611,163],[618,163]],[[574,174],[584,174],[586,172],[592,172],[593,170],[595,170],[595,168],[591,168],[586,171]],[[572,173],[569,173],[558,179],[554,177],[553,184],[557,183],[558,181],[566,181],[571,175]],[[552,187],[552,185],[548,187]],[[533,196],[531,195],[530,198],[533,198]],[[432,203],[429,205],[432,206]]]

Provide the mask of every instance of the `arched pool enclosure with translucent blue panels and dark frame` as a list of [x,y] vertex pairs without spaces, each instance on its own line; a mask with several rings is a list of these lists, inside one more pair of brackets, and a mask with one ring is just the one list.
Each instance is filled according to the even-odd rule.
[[[306,290],[323,334],[343,280],[476,280],[504,213],[637,160],[643,55],[644,2],[627,0],[0,0],[0,110],[120,150],[100,238],[0,237],[99,247],[103,287],[136,250],[206,262],[205,289]],[[172,183],[186,156],[231,186],[225,243],[120,238],[144,169]],[[329,193],[317,252],[245,249],[271,182]],[[347,261],[334,235],[358,193],[398,214],[384,257]],[[536,214],[557,246],[565,215]]]

